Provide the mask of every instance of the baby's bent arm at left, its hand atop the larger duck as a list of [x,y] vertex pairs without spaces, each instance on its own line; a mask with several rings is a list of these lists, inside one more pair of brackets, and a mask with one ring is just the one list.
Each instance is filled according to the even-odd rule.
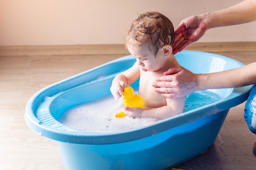
[[110,91],[115,99],[117,100],[119,97],[121,97],[123,95],[123,88],[135,82],[139,76],[140,73],[137,62],[128,70],[118,74],[113,79],[112,86],[110,87]]

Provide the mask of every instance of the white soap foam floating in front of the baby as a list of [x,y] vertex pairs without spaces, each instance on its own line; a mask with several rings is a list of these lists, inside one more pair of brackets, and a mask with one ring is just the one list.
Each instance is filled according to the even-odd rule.
[[97,101],[81,104],[67,110],[58,119],[59,122],[91,132],[117,132],[144,126],[154,118],[115,117],[115,114],[124,111],[122,98],[115,101],[112,95],[103,97]]

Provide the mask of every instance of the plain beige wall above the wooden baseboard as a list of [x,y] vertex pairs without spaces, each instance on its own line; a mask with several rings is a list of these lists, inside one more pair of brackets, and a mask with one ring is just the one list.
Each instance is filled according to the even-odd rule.
[[[176,27],[191,15],[242,0],[0,0],[0,46],[122,44],[137,13],[158,11]],[[207,31],[200,42],[256,41],[256,22]]]

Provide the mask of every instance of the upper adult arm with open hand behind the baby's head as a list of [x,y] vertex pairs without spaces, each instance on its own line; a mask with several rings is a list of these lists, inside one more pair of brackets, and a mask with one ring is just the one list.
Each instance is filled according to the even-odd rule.
[[181,21],[175,30],[173,54],[198,41],[211,28],[256,20],[256,0],[245,0],[227,9],[195,15]]

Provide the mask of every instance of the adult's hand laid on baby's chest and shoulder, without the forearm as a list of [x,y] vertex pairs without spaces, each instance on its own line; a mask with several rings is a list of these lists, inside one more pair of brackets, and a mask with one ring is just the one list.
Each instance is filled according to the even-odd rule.
[[184,97],[199,90],[198,75],[182,66],[170,68],[155,80],[155,92],[167,98]]

